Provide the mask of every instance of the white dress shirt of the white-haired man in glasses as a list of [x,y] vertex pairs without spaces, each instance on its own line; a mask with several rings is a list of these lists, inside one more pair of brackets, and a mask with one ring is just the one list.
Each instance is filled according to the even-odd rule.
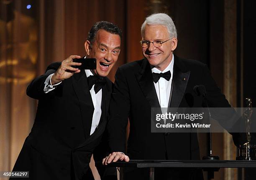
[[165,114],[167,112],[167,107],[169,104],[169,98],[170,98],[170,93],[171,93],[171,88],[172,88],[173,65],[174,65],[174,55],[172,55],[172,61],[170,62],[170,64],[163,71],[160,71],[156,67],[153,67],[151,69],[152,73],[153,72],[164,73],[167,71],[171,72],[171,79],[169,81],[164,79],[164,77],[160,77],[158,82],[156,82],[156,83],[154,82],[155,89],[156,89],[156,95],[159,100],[159,104],[160,104],[163,114]]

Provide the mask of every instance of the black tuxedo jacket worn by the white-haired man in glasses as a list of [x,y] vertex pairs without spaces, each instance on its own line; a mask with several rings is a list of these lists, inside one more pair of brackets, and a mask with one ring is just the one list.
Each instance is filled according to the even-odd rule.
[[[210,107],[230,107],[207,66],[174,55],[170,107],[191,107],[198,100],[193,87],[205,85]],[[108,123],[112,152],[125,152],[125,128],[130,120],[127,155],[136,160],[199,160],[197,133],[151,133],[151,107],[160,107],[146,59],[118,68],[110,100]]]

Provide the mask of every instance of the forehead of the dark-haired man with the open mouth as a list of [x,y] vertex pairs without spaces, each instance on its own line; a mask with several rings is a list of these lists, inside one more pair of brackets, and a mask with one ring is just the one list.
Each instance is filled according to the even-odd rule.
[[97,31],[96,41],[98,44],[104,44],[109,47],[118,47],[121,44],[121,39],[119,35],[112,34],[105,30]]

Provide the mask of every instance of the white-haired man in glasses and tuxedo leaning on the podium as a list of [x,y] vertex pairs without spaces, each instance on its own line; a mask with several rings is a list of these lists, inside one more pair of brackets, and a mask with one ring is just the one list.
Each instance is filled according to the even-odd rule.
[[[190,107],[195,85],[205,85],[210,107],[230,107],[207,65],[177,57],[177,32],[172,18],[157,13],[141,26],[143,60],[118,68],[110,101],[111,153],[103,164],[117,160],[199,160],[196,133],[151,133],[151,108]],[[130,133],[125,153],[126,126]],[[201,170],[155,169],[155,179],[203,179]],[[129,169],[124,179],[148,179],[149,169]]]

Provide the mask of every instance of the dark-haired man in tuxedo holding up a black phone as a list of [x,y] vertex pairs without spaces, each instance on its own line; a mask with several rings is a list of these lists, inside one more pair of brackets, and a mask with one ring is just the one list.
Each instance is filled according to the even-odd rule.
[[113,23],[95,23],[84,43],[84,62],[95,58],[94,70],[80,68],[81,59],[73,59],[81,57],[71,55],[28,85],[38,108],[13,171],[29,171],[31,180],[90,179],[86,174],[105,131],[113,84],[106,76],[118,60],[121,36]]

